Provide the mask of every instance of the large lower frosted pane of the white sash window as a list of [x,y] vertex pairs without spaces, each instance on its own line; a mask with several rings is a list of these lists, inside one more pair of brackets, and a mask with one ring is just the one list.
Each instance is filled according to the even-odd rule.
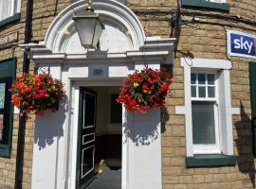
[[193,144],[215,144],[215,121],[213,102],[192,101]]

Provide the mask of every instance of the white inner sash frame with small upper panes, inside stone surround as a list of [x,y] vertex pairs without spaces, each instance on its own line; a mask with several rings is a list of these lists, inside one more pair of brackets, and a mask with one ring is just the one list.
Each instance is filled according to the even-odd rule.
[[[215,122],[215,144],[214,145],[194,145],[193,144],[193,153],[194,154],[219,154],[220,151],[220,136],[219,136],[219,90],[218,90],[218,75],[216,72],[212,72],[209,70],[194,70],[192,69],[192,73],[196,75],[196,83],[192,84],[191,86],[196,87],[196,94],[198,94],[198,87],[197,86],[203,86],[206,88],[206,97],[192,97],[192,101],[204,101],[204,102],[214,102],[214,122]],[[205,74],[206,77],[208,74],[212,74],[214,76],[214,84],[209,85],[208,83],[205,84],[198,84],[198,74]],[[206,79],[207,80],[207,79]],[[215,88],[215,96],[209,97],[208,96],[208,87],[213,86]]]

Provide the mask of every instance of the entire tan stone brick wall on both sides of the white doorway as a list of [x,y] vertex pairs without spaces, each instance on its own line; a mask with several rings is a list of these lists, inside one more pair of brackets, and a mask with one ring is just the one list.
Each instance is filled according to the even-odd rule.
[[[190,22],[193,12],[200,19],[198,23],[178,26],[174,30],[170,26],[171,12],[177,9],[178,0],[127,0],[127,6],[135,11],[144,26],[147,36],[161,35],[162,37],[177,38],[177,51],[175,52],[173,70],[174,83],[171,86],[172,96],[168,98],[167,106],[163,112],[162,133],[162,168],[163,188],[253,188],[255,186],[255,159],[252,156],[252,143],[250,131],[250,95],[248,61],[244,58],[230,58],[232,69],[230,71],[232,107],[241,107],[241,115],[233,116],[234,154],[238,162],[235,166],[212,168],[187,168],[185,117],[174,112],[174,106],[184,105],[183,68],[180,67],[180,58],[192,55],[194,58],[223,59],[227,57],[226,30],[238,30],[255,34],[256,23],[249,25],[243,19],[255,21],[256,2],[254,0],[229,0],[231,7],[229,13],[210,11],[207,9],[181,9],[182,23]],[[42,41],[46,30],[55,16],[70,5],[69,0],[35,0],[33,10],[33,39]],[[0,36],[19,31],[18,43],[24,42],[24,26],[27,1],[22,0],[20,22],[0,28]],[[206,13],[224,15],[227,18],[215,18]],[[241,19],[234,19],[240,15]],[[228,19],[229,17],[229,19]],[[233,19],[230,19],[233,17]],[[242,22],[243,21],[243,22]],[[173,31],[173,32],[172,32]],[[13,47],[12,47],[13,46]],[[0,49],[0,60],[12,56],[18,58],[17,76],[20,76],[23,62],[23,52],[14,44]],[[15,48],[14,48],[15,46]],[[33,65],[30,66],[33,71]],[[27,120],[24,183],[23,187],[30,188],[33,137],[33,116]],[[14,116],[12,133],[12,151],[10,159],[0,158],[0,188],[13,188],[16,163],[18,115]]]

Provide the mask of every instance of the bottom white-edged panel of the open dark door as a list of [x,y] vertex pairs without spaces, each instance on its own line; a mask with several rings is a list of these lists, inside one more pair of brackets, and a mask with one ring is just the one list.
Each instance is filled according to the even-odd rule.
[[82,179],[94,169],[94,147],[82,149]]

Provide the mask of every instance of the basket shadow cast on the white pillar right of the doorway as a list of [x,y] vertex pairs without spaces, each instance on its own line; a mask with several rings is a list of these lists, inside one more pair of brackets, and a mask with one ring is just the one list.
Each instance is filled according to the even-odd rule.
[[129,119],[128,122],[125,121],[123,123],[123,133],[126,138],[132,140],[136,146],[149,146],[152,144],[158,138],[160,132],[159,118],[157,119],[156,117],[159,113],[156,111],[158,111],[157,108],[144,114],[125,112],[125,117]]

